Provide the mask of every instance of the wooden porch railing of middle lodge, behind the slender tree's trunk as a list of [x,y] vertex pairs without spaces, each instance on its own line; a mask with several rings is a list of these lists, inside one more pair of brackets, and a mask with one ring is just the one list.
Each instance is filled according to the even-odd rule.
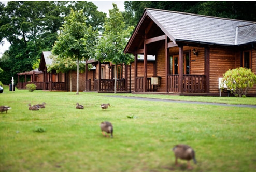
[[[115,80],[114,79],[101,79],[99,84],[98,79],[94,80],[94,91],[114,91]],[[117,80],[117,91],[125,91],[125,79]]]

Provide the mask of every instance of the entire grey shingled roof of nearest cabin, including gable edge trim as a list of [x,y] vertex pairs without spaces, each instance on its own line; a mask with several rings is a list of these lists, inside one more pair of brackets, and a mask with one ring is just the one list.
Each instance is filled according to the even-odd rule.
[[157,24],[175,44],[192,42],[237,46],[256,42],[256,22],[146,8],[127,46],[131,45],[145,16]]

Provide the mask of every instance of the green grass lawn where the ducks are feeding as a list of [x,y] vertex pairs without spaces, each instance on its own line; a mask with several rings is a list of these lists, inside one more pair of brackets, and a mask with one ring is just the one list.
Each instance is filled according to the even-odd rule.
[[[181,167],[174,165],[171,149],[180,143],[196,152],[198,163],[192,164],[193,171],[256,169],[256,108],[4,89],[0,105],[12,109],[0,114],[0,171],[188,171],[186,161],[179,161]],[[213,102],[218,98],[230,103],[235,97],[207,97]],[[255,98],[241,99],[254,99],[255,104]],[[27,106],[42,102],[46,108],[39,111]],[[77,102],[83,110],[75,108]],[[103,111],[102,103],[111,107]],[[112,122],[113,139],[102,136],[102,121]]]

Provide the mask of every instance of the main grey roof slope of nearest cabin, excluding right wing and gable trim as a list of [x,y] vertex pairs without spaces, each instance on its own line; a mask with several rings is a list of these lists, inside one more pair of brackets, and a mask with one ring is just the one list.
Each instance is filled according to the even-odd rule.
[[173,42],[235,45],[236,27],[253,23],[174,11],[146,9],[146,12],[170,39],[173,37]]

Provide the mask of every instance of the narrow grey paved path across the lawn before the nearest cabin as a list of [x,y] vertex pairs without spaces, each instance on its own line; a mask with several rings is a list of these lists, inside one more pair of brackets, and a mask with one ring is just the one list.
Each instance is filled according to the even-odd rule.
[[210,102],[193,102],[193,101],[174,101],[169,99],[158,99],[158,98],[144,98],[144,97],[125,97],[125,96],[108,96],[115,98],[126,98],[126,99],[136,99],[140,101],[155,101],[155,102],[172,102],[172,103],[189,103],[189,104],[201,104],[201,105],[217,105],[217,106],[232,106],[232,107],[250,107],[256,108],[256,105],[231,105],[224,103],[210,103]]

